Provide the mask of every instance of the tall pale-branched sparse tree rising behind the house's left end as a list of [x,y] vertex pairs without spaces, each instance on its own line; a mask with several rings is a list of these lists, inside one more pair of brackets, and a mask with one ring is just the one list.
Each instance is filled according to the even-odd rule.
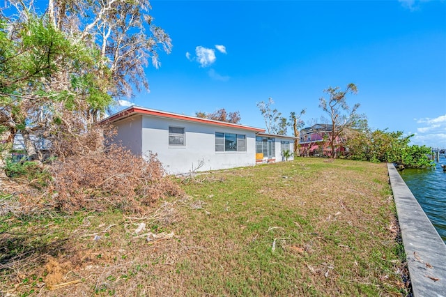
[[[117,99],[132,96],[133,89],[148,89],[148,62],[158,68],[158,52],[171,51],[171,38],[155,26],[149,10],[148,0],[49,0],[47,14],[68,38],[100,53],[100,63],[90,72],[95,88]],[[86,115],[94,122],[103,112],[92,104]]]

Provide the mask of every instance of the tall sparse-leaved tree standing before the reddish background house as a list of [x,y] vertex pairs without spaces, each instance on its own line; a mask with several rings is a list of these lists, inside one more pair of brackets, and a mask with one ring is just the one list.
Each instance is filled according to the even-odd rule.
[[320,98],[319,107],[330,116],[331,132],[328,135],[330,143],[331,158],[336,158],[336,146],[342,143],[341,135],[347,128],[352,127],[361,118],[361,115],[356,113],[360,107],[359,103],[350,108],[346,102],[346,95],[348,93],[357,93],[355,84],[348,84],[344,91],[341,91],[339,86],[324,90],[328,93],[329,98]]

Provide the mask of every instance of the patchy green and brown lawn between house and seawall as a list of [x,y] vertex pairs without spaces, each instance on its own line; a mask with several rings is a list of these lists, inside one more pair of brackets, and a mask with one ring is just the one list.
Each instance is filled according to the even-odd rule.
[[144,213],[28,215],[1,198],[0,291],[26,296],[407,295],[383,164],[206,172]]

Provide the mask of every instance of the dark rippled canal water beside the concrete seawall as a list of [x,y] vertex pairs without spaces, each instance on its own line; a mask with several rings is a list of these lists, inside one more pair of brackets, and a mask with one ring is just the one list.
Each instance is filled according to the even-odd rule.
[[446,172],[441,164],[446,165],[445,155],[432,169],[404,169],[400,174],[446,243]]

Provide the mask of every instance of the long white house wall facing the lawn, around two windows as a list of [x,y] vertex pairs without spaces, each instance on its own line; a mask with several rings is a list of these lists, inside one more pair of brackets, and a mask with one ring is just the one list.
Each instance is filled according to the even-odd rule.
[[[169,126],[185,128],[184,146],[169,146]],[[215,132],[246,135],[246,151],[216,152]],[[255,165],[255,136],[249,130],[143,116],[141,148],[143,155],[157,153],[168,174],[182,174],[197,169],[201,162],[198,171]]]

